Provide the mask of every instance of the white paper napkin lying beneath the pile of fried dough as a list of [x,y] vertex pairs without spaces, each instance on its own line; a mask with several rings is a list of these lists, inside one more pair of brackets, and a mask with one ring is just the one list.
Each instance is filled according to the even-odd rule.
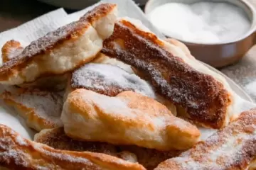
[[[128,16],[130,18],[136,18],[142,21],[144,26],[149,28],[153,33],[159,36],[159,38],[164,38],[159,30],[157,30],[144,16],[144,13],[140,10],[140,8],[134,3],[132,0],[104,0],[102,2],[112,2],[118,5],[119,8],[119,16]],[[94,6],[100,4],[97,3]],[[33,40],[40,38],[45,35],[49,31],[53,31],[60,26],[64,26],[67,23],[78,20],[80,16],[84,15],[88,10],[92,9],[94,6],[90,6],[85,8],[82,11],[78,11],[68,15],[65,13],[63,8],[60,8],[56,11],[52,11],[47,13],[41,17],[34,19],[33,21],[29,21],[28,23],[24,23],[22,26],[18,26],[17,28],[7,30],[3,33],[0,33],[0,47],[4,45],[4,42],[7,40],[18,40],[23,45],[28,45]],[[1,52],[0,52],[1,55]],[[232,77],[231,77],[232,78]],[[1,89],[0,89],[1,91]],[[236,100],[238,103],[236,105],[235,111],[245,111],[249,108],[256,107],[254,103],[247,102],[238,97]],[[23,137],[27,137],[28,139],[33,139],[33,135],[35,132],[26,127],[23,120],[16,115],[15,111],[6,108],[3,103],[0,103],[3,108],[0,108],[0,123],[9,125],[9,127],[13,128],[17,132],[19,132]],[[203,133],[203,138],[210,135],[215,130],[207,130]]]

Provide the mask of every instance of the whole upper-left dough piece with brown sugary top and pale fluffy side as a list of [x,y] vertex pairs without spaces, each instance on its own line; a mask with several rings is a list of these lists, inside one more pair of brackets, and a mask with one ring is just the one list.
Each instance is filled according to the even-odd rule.
[[[58,28],[30,45],[0,67],[0,83],[32,83],[41,77],[62,75],[92,61],[102,49],[117,18],[115,4],[100,4],[80,18]],[[107,30],[102,33],[102,24]]]

